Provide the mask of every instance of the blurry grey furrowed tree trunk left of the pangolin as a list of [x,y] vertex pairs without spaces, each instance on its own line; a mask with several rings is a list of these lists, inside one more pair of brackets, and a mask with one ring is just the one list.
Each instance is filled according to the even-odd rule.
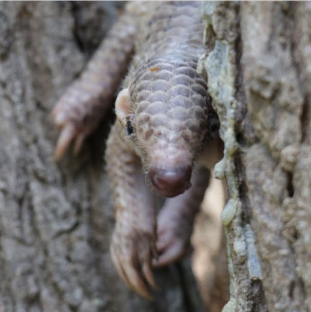
[[148,302],[110,260],[103,153],[110,115],[82,152],[53,159],[49,116],[119,2],[0,2],[0,311],[201,311],[189,259],[156,271]]

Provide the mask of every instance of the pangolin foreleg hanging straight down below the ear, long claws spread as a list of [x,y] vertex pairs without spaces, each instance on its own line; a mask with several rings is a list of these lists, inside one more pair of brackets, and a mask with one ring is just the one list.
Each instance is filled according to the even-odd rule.
[[155,196],[145,183],[139,158],[123,141],[120,128],[119,123],[114,124],[106,149],[116,219],[110,252],[124,282],[151,299],[143,280],[155,287],[151,270],[152,258],[157,255]]

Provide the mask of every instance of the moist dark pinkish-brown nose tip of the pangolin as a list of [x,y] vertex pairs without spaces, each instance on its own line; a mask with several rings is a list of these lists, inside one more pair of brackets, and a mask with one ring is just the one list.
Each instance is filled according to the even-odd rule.
[[150,181],[156,192],[164,197],[174,197],[187,190],[190,184],[192,166],[173,168],[158,168],[153,166],[149,170]]

